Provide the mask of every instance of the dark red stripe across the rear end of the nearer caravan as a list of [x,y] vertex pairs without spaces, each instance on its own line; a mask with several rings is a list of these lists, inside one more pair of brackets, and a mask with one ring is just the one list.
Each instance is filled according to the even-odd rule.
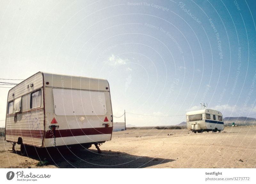
[[[65,129],[55,130],[55,137],[73,137],[81,135],[100,135],[100,134],[112,134],[113,127],[102,128],[79,128],[79,129]],[[45,138],[54,138],[54,133],[51,130],[46,131]]]

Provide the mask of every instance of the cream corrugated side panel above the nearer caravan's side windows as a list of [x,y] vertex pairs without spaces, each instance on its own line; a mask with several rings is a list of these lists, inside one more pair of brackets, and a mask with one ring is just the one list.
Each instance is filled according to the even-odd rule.
[[[30,87],[31,84],[33,84],[32,87]],[[41,87],[43,87],[43,75],[41,72],[38,72],[35,75],[29,77],[28,79],[22,81],[20,84],[16,85],[14,88],[12,88],[8,93],[8,101],[14,100],[27,93],[35,91],[36,89],[39,89]],[[13,93],[14,93],[14,96],[12,96]]]

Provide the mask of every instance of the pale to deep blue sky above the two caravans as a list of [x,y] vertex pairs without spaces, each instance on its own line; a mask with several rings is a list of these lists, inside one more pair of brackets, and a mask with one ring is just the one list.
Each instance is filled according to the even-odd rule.
[[[114,116],[153,115],[127,113],[136,126],[178,124],[185,116],[176,115],[200,103],[224,117],[256,117],[255,8],[254,1],[1,1],[0,78],[38,71],[106,78]],[[0,120],[8,90],[0,88]]]

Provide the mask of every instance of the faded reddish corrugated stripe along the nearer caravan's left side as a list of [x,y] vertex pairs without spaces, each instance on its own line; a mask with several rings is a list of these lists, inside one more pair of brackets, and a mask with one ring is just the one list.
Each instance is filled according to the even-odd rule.
[[43,139],[43,130],[5,130],[5,135]]

